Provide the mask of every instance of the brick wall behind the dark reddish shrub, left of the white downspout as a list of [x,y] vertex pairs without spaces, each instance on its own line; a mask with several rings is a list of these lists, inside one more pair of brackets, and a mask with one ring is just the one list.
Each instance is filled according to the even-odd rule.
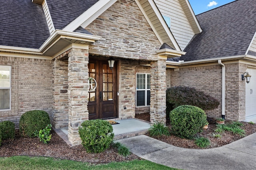
[[[221,116],[222,67],[220,65],[180,68],[179,71],[168,68],[166,72],[168,73],[166,82],[170,82],[171,87],[194,87],[196,90],[200,90],[216,98],[220,102],[220,105],[216,109],[206,111],[206,114],[209,117]],[[183,79],[179,78],[180,74]]]

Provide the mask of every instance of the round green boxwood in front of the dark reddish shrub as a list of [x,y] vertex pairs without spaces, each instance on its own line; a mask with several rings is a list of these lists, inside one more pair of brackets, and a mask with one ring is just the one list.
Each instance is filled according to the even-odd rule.
[[170,112],[172,133],[178,137],[192,139],[208,124],[205,112],[196,106],[178,106]]

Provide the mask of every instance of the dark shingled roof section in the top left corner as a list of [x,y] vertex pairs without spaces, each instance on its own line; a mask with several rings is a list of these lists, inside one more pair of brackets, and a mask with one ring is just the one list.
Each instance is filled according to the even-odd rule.
[[49,36],[41,5],[31,0],[1,1],[0,45],[38,49]]

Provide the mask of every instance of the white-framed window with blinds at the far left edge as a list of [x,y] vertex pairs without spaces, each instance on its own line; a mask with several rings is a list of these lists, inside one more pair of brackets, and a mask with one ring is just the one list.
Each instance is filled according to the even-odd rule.
[[0,111],[10,109],[11,66],[0,65]]

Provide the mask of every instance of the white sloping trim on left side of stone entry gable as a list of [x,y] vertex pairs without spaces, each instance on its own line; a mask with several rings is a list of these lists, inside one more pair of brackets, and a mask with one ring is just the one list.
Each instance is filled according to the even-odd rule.
[[99,0],[91,8],[78,16],[78,18],[76,18],[74,21],[70,22],[62,30],[72,32],[79,26],[83,28],[87,27],[90,23],[92,23],[92,21],[94,21],[98,16],[105,12],[116,1],[117,0]]

